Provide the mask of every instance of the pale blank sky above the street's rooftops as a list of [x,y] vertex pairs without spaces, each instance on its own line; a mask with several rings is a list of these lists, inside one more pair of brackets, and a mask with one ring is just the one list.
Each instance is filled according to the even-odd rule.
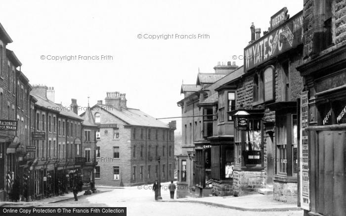
[[[284,6],[292,17],[303,0],[0,0],[0,23],[22,72],[31,84],[53,86],[55,103],[68,106],[76,98],[87,106],[89,96],[93,105],[119,91],[128,107],[160,118],[181,115],[182,80],[195,84],[198,68],[214,72],[217,62],[234,61],[251,39],[251,23],[267,30]],[[143,38],[162,34],[209,38]],[[75,55],[113,60],[47,60]]]

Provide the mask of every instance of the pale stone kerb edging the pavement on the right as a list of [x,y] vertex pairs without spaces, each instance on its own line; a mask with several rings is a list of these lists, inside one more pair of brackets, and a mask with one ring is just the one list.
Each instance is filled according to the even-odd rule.
[[250,211],[250,212],[286,212],[286,211],[300,211],[300,207],[283,207],[283,208],[243,208],[237,206],[228,206],[219,203],[207,202],[207,201],[198,201],[198,200],[158,200],[158,202],[177,202],[177,203],[198,203],[204,205],[210,205],[226,209],[234,209],[240,211]]

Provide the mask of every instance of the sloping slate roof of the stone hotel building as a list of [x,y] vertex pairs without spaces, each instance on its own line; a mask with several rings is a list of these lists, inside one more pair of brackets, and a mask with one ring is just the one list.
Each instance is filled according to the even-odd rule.
[[[145,126],[145,127],[159,127],[159,128],[169,128],[168,124],[157,120],[156,118],[146,114],[145,112],[142,112],[139,109],[134,108],[122,108],[121,110],[116,109],[109,105],[99,105],[96,104],[95,106],[100,107],[101,109],[108,111],[115,117],[121,119],[128,125],[136,125],[136,126]],[[85,115],[83,113],[82,115]]]

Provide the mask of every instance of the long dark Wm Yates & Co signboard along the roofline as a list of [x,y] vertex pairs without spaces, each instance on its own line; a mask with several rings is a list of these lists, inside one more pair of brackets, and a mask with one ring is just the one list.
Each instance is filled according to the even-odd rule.
[[[285,13],[287,13],[285,11]],[[272,22],[272,21],[271,21]],[[280,22],[279,22],[280,23]],[[249,71],[302,43],[303,11],[270,29],[266,35],[244,49],[244,67]]]

